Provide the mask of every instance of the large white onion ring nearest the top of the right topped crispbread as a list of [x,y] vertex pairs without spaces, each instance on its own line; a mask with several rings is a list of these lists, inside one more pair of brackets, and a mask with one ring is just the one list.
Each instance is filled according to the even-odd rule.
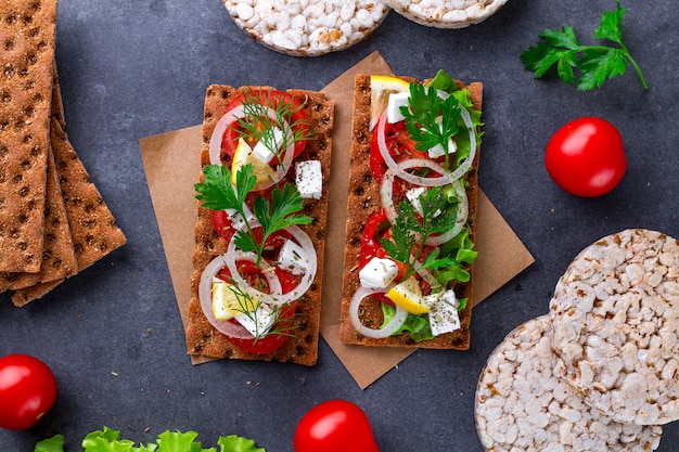
[[420,186],[445,185],[454,180],[460,179],[472,167],[472,164],[474,163],[474,158],[476,157],[476,133],[474,130],[474,122],[472,121],[472,117],[470,116],[470,113],[463,106],[460,106],[460,116],[462,117],[462,120],[464,121],[464,125],[466,126],[467,133],[470,134],[470,155],[466,156],[464,162],[462,162],[462,164],[454,171],[448,171],[444,169],[440,165],[433,163],[435,166],[427,165],[427,167],[438,172],[440,176],[435,177],[435,178],[423,178],[420,176],[406,172],[403,168],[399,168],[399,165],[396,164],[396,160],[394,160],[394,158],[392,157],[392,154],[389,154],[389,150],[386,145],[386,133],[385,133],[386,120],[387,120],[386,111],[380,117],[380,120],[377,121],[377,128],[374,132],[374,133],[377,133],[377,147],[380,148],[380,154],[382,155],[382,158],[384,159],[388,168],[394,168],[395,171],[398,171],[397,173],[401,179],[410,183],[413,183],[415,185],[420,185]]

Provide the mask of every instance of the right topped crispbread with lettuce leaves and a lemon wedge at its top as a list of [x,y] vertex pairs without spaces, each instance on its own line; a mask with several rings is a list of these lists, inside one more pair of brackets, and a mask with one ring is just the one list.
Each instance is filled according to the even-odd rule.
[[482,90],[356,77],[343,343],[469,348]]

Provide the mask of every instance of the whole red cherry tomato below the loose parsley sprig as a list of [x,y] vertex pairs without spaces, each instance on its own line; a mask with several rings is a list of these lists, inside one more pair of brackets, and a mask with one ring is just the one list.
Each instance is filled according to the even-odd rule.
[[623,138],[605,119],[575,119],[559,129],[547,144],[545,167],[566,192],[584,197],[601,196],[625,176]]

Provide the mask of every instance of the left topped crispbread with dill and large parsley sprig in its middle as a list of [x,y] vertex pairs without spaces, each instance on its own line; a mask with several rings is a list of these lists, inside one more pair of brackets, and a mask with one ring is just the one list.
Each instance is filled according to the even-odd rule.
[[316,363],[333,117],[320,92],[207,88],[189,353]]

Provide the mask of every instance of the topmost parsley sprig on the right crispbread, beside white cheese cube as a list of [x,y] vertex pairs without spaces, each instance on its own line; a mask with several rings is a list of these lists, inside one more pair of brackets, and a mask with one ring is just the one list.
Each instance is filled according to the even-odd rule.
[[406,118],[406,129],[419,151],[428,151],[440,144],[445,152],[445,167],[450,168],[450,139],[459,132],[460,104],[449,95],[445,100],[435,89],[410,83],[408,106],[400,111]]

